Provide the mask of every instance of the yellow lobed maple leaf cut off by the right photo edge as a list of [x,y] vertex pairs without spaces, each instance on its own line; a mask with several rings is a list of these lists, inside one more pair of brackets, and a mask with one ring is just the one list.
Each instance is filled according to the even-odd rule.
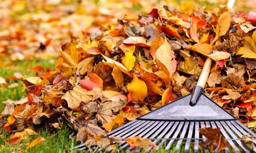
[[244,37],[244,47],[240,47],[236,55],[242,55],[245,58],[256,58],[256,32],[254,31],[252,37]]

